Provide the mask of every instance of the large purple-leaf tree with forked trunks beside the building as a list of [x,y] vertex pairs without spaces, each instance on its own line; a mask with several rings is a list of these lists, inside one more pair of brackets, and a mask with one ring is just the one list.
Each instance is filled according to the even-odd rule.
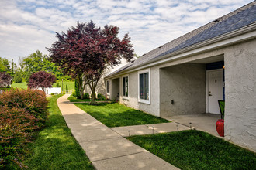
[[133,45],[128,34],[119,39],[116,26],[96,27],[95,23],[78,22],[76,27],[57,34],[57,41],[47,50],[50,59],[78,80],[81,99],[85,85],[92,90],[92,104],[95,104],[95,89],[108,66],[117,66],[120,59],[133,59]]

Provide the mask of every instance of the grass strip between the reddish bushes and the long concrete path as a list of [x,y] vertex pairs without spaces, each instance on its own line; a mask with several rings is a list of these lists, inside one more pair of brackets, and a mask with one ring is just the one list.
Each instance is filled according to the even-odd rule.
[[29,169],[94,169],[78,145],[62,117],[56,100],[50,97],[50,115],[47,127],[28,145],[29,155],[23,162]]

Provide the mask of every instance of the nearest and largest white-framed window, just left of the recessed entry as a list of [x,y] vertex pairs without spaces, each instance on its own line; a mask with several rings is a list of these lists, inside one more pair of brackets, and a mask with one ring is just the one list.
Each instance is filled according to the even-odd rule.
[[150,104],[150,73],[139,73],[139,101]]

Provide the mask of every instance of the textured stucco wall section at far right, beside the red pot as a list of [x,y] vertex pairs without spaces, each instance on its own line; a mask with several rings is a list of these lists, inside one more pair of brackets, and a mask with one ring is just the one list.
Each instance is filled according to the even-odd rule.
[[256,151],[256,40],[225,53],[225,138]]

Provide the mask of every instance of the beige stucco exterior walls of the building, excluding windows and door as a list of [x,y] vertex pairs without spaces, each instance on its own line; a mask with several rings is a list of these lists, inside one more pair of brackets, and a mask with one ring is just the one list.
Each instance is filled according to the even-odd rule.
[[[157,66],[144,66],[141,70],[150,70],[150,104],[138,100],[138,73],[141,70],[123,73],[129,76],[129,97],[122,95],[123,75],[116,76],[115,79],[120,78],[119,101],[155,116],[206,113],[206,63],[224,61],[225,138],[256,151],[255,46],[256,39],[250,39],[189,54]],[[113,81],[110,85],[113,86]]]

